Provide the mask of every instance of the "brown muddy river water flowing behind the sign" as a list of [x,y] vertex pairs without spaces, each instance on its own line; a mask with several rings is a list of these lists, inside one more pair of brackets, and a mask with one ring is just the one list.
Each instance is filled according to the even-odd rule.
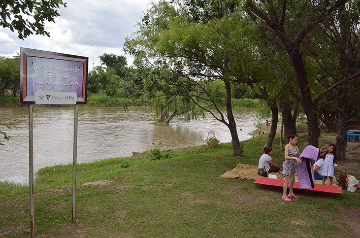
[[[251,138],[256,112],[236,109],[240,141]],[[28,183],[28,108],[0,108],[1,129],[11,136],[0,139],[0,181]],[[231,142],[228,128],[206,114],[206,119],[190,122],[174,118],[170,126],[156,126],[151,108],[79,107],[77,162],[132,156],[161,143],[161,149],[202,145],[213,130],[221,143]],[[240,130],[242,128],[242,130]],[[34,169],[73,162],[74,107],[34,108]]]

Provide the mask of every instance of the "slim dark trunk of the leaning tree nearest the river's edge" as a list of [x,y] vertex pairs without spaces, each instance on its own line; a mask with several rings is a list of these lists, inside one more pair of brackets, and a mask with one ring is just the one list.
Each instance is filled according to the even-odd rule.
[[231,106],[231,86],[230,82],[225,81],[225,90],[226,90],[226,113],[228,119],[228,128],[230,130],[232,142],[233,142],[233,156],[242,156],[243,150],[240,148],[238,131],[236,129],[236,122],[233,114],[233,109]]

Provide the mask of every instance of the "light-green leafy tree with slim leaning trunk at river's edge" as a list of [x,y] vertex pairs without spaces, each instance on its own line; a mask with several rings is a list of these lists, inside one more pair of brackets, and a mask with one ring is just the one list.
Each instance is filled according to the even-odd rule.
[[[191,10],[194,4],[208,9],[201,1],[185,2],[185,6],[179,4],[176,7],[165,1],[153,4],[143,17],[136,37],[128,40],[125,48],[138,57],[151,58],[149,62],[163,59],[169,69],[178,75],[177,79],[187,78],[195,91],[178,90],[178,94],[173,95],[190,98],[224,123],[232,135],[234,155],[240,156],[242,149],[232,111],[231,88],[247,78],[246,70],[240,67],[250,64],[252,57],[249,55],[252,55],[254,48],[246,42],[246,28],[239,24],[237,18],[233,18],[236,15],[233,4],[211,2],[213,8],[204,15],[197,15],[197,11]],[[221,13],[216,14],[214,9],[220,9]],[[238,17],[241,18],[241,14]],[[215,79],[221,80],[225,89],[226,115],[219,110],[211,93],[201,83]],[[177,84],[176,81],[169,83]],[[207,101],[207,105],[215,110],[203,107],[199,100]]]

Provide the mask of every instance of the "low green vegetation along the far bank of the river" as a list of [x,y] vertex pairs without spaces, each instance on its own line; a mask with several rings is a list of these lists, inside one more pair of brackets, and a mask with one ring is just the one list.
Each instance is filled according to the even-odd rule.
[[[225,104],[225,101],[224,101]],[[257,108],[260,105],[259,99],[251,98],[242,98],[242,99],[232,99],[233,108]],[[4,107],[23,107],[24,105],[20,104],[20,97],[16,97],[5,94],[4,97],[0,97],[0,108]],[[26,105],[25,105],[26,106]],[[39,105],[38,105],[39,106]],[[51,105],[47,105],[48,107]],[[129,99],[123,97],[110,97],[106,93],[92,93],[88,95],[87,104],[80,105],[82,107],[137,107],[137,106],[147,106],[151,107],[151,101],[149,99]],[[44,107],[41,105],[40,107]]]

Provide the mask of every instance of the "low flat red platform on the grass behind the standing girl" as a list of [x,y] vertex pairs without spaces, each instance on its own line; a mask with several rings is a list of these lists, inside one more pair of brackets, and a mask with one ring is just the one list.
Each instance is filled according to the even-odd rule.
[[[276,186],[276,187],[283,187],[285,180],[280,179],[268,179],[268,178],[258,178],[254,184],[260,185],[269,185],[269,186]],[[298,182],[294,182],[294,187],[296,189],[301,189]],[[330,185],[322,185],[322,184],[315,184],[314,188],[303,188],[303,190],[309,191],[317,191],[317,192],[327,192],[327,193],[336,193],[341,194],[342,188],[340,186],[330,186]]]

